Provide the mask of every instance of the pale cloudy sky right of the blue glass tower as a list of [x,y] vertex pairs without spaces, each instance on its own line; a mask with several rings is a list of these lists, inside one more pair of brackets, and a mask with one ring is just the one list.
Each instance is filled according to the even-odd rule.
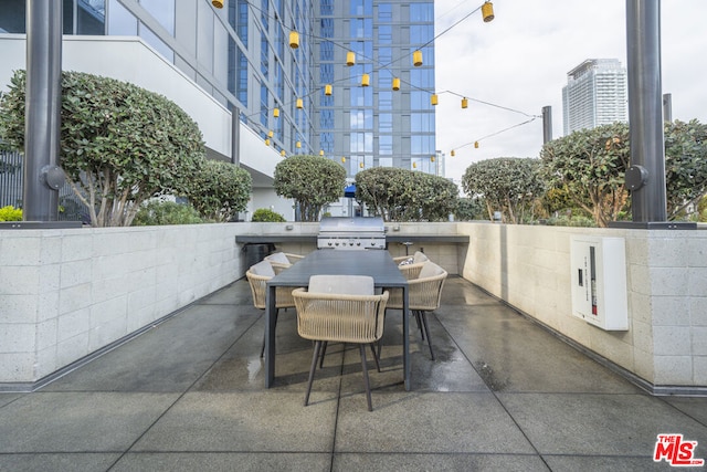
[[[482,3],[435,0],[435,35]],[[538,157],[544,106],[552,107],[552,137],[561,137],[562,87],[584,60],[618,59],[627,66],[624,0],[493,4],[492,22],[482,21],[479,9],[435,40],[436,148],[446,155],[445,177],[457,185],[473,162]],[[707,123],[706,22],[706,0],[661,2],[662,90],[672,95],[673,119]]]

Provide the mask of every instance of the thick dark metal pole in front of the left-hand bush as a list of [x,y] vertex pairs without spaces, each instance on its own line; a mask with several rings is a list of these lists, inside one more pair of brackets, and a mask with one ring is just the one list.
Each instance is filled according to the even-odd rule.
[[24,221],[59,218],[62,15],[62,2],[27,0]]

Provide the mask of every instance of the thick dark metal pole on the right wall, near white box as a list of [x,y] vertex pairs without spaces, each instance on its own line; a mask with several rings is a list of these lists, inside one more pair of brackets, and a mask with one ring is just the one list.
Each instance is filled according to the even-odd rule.
[[667,219],[661,91],[661,0],[626,0],[633,222]]

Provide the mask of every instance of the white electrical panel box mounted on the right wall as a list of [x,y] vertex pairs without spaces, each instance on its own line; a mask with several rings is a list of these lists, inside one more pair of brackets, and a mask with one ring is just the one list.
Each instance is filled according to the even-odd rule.
[[572,315],[606,331],[629,329],[623,238],[570,239]]

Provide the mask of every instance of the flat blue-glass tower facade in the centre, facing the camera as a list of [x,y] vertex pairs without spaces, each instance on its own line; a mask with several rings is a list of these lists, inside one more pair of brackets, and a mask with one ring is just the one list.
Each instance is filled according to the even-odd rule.
[[[434,3],[319,0],[315,11],[320,151],[340,161],[349,177],[379,166],[434,174]],[[415,67],[416,50],[423,64]],[[350,66],[349,52],[356,59]],[[398,91],[393,78],[400,80]]]

